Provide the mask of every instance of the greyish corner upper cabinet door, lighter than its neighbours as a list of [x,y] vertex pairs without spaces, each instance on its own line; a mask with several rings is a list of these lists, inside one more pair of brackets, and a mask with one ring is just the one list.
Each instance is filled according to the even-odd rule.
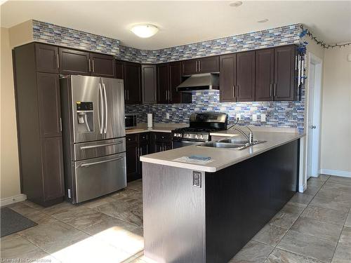
[[156,65],[142,65],[141,79],[143,87],[143,103],[157,102]]

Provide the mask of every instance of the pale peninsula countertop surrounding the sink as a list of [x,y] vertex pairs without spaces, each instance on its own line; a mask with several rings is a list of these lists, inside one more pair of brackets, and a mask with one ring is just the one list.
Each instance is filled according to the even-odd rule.
[[[229,131],[229,132],[231,133],[232,131]],[[227,133],[227,131],[225,131],[225,133]],[[218,133],[218,134],[219,136],[222,136],[221,133]],[[192,145],[187,147],[181,147],[178,149],[162,151],[156,154],[148,154],[145,156],[140,156],[140,161],[144,161],[146,163],[157,163],[165,166],[187,168],[192,170],[201,170],[201,171],[213,173],[223,168],[226,168],[228,166],[232,166],[235,163],[239,163],[241,161],[249,159],[258,154],[262,154],[263,152],[273,149],[275,147],[279,147],[288,142],[292,142],[293,140],[297,140],[298,138],[303,136],[305,135],[302,133],[255,131],[254,132],[255,140],[265,140],[267,142],[256,144],[241,150],[199,147],[197,145]],[[208,157],[211,157],[211,160],[213,161],[211,163],[205,163],[205,164],[173,161],[174,159],[178,159],[183,156],[191,156],[191,155],[208,156]]]

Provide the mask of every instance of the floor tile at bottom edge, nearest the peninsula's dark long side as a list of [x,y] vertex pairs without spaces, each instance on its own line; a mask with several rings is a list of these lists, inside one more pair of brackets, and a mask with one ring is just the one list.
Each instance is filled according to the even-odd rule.
[[265,262],[273,247],[264,245],[256,241],[249,241],[237,255],[230,259],[230,263],[245,262],[245,263],[260,263]]

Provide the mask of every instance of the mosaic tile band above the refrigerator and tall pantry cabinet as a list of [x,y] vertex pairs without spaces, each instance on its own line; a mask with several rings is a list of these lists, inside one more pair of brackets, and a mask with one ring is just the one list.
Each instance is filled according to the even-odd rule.
[[78,48],[109,55],[119,55],[119,40],[68,27],[32,20],[34,41]]

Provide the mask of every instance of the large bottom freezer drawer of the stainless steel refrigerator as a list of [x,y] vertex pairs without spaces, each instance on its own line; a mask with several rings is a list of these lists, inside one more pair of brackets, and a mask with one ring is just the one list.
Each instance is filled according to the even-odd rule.
[[126,153],[74,162],[76,203],[126,187]]

